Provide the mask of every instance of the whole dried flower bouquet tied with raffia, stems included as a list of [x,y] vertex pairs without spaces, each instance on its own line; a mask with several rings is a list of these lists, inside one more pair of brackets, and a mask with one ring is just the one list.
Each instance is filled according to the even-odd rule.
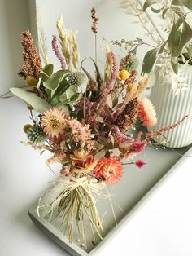
[[[96,35],[95,9],[91,15],[94,20],[91,29]],[[11,88],[11,92],[27,103],[33,122],[24,126],[28,138],[25,144],[41,153],[49,151],[51,157],[46,160],[47,165],[61,164],[59,179],[55,182],[59,189],[55,193],[55,188],[46,192],[37,211],[40,216],[41,210],[46,211],[49,221],[58,219],[69,242],[77,223],[86,243],[85,219],[93,236],[103,238],[96,199],[107,184],[121,179],[122,161],[142,168],[145,162],[133,161],[133,157],[153,143],[156,135],[178,126],[185,117],[168,128],[150,133],[135,131],[133,136],[136,126],[155,126],[157,121],[151,101],[142,97],[149,77],[137,75],[133,54],[126,55],[118,64],[115,53],[107,46],[104,76],[93,60],[93,77],[83,67],[85,60],[80,62],[76,33],[64,27],[62,17],[57,21],[57,29],[62,53],[55,35],[52,48],[61,69],[54,72],[53,64],[42,67],[27,30],[21,36],[24,65],[19,73],[24,77],[26,89]],[[46,55],[45,63],[47,61]],[[37,117],[33,116],[33,109],[40,113]]]

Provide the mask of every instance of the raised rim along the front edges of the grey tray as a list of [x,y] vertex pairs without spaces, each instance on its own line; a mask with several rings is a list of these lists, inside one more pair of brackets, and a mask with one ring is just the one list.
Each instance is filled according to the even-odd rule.
[[[85,250],[81,249],[81,247],[78,247],[75,244],[69,244],[67,239],[66,241],[59,239],[58,236],[56,236],[56,240],[53,238],[53,236],[55,236],[55,233],[51,232],[49,227],[50,224],[47,223],[46,221],[44,221],[42,218],[37,218],[37,214],[33,214],[33,210],[36,204],[33,205],[33,207],[31,207],[31,209],[28,210],[28,215],[31,218],[31,220],[33,221],[33,223],[35,223],[37,226],[41,225],[42,227],[42,232],[45,232],[45,229],[50,233],[50,235],[46,232],[46,234],[48,236],[51,236],[50,238],[52,240],[54,240],[59,246],[61,246],[63,249],[67,250],[69,254],[72,255],[76,255],[76,256],[94,256],[97,255],[101,249],[103,249],[104,245],[107,245],[107,243],[109,243],[111,241],[111,239],[116,236],[120,230],[122,229],[122,227],[124,226],[124,224],[129,223],[129,221],[131,220],[131,218],[134,217],[135,214],[137,214],[137,211],[142,209],[142,207],[144,207],[144,205],[146,205],[146,203],[148,201],[150,201],[151,196],[155,195],[155,192],[158,192],[160,188],[162,188],[164,186],[164,183],[168,182],[168,180],[172,177],[172,175],[179,169],[179,167],[181,166],[182,163],[184,163],[186,161],[186,159],[188,159],[187,155],[189,155],[189,153],[192,153],[192,145],[190,145],[190,148],[185,152],[185,154],[178,159],[175,164],[166,172],[166,174],[164,174],[157,183],[155,183],[151,189],[146,192],[146,194],[144,194],[141,199],[137,202],[136,205],[133,206],[133,208],[131,210],[129,210],[128,214],[125,214],[123,218],[121,218],[120,222],[118,223],[118,225],[114,228],[111,229],[110,232],[107,233],[106,236],[104,236],[103,241],[100,241],[98,243],[97,246],[95,246],[94,249],[92,249],[89,253],[85,252]],[[51,225],[50,225],[51,227]],[[63,245],[59,244],[59,241],[61,241],[63,243]]]

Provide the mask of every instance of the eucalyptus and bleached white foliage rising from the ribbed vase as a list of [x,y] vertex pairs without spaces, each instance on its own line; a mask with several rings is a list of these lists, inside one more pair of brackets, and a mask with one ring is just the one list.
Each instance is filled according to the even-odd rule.
[[[140,17],[139,21],[141,22],[141,19],[147,20],[145,26],[141,22],[142,27],[149,33],[150,29],[147,24],[150,24],[154,31],[152,39],[153,42],[156,42],[156,46],[146,52],[142,73],[151,72],[158,55],[163,53],[170,57],[172,69],[175,73],[178,72],[179,63],[185,64],[188,61],[188,64],[192,64],[190,61],[192,27],[187,16],[187,11],[192,10],[191,0],[172,0],[171,2],[146,0],[143,4],[140,0],[122,0],[121,7],[124,7],[126,10],[131,7],[132,13],[129,11],[129,14],[133,15],[135,15],[133,11],[140,11],[142,18]],[[159,26],[157,26],[148,13],[149,10],[164,21],[164,34],[160,32]],[[149,35],[151,36],[151,33]],[[155,41],[154,38],[157,40]]]

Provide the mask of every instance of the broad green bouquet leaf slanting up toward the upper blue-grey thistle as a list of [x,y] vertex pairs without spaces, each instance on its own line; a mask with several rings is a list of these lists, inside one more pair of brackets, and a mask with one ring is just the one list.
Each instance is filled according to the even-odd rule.
[[44,82],[43,85],[46,87],[46,89],[55,90],[57,86],[59,86],[59,82],[61,82],[67,75],[67,70],[59,70],[50,78],[46,79],[46,82]]

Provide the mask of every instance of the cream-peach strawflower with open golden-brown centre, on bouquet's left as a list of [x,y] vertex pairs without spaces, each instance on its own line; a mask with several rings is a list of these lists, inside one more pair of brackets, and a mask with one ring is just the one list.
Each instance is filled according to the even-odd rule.
[[50,108],[41,117],[41,127],[50,138],[59,138],[63,134],[65,113],[61,108]]

